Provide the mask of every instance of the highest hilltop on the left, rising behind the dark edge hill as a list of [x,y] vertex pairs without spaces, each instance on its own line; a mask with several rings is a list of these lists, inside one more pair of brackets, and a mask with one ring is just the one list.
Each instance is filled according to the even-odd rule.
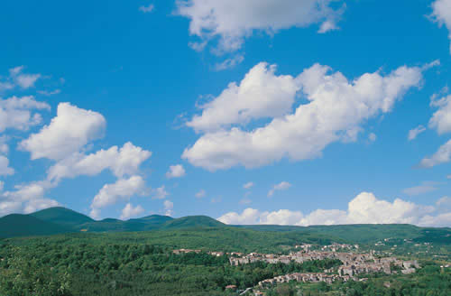
[[77,228],[79,225],[95,220],[69,208],[46,208],[30,214],[42,221],[51,222],[64,227]]

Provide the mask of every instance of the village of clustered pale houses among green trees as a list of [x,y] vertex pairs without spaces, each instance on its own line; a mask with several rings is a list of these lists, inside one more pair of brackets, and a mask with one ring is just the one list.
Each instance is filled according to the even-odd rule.
[[[379,257],[374,251],[369,253],[358,253],[358,245],[333,244],[324,246],[295,245],[295,251],[290,254],[259,254],[259,253],[224,253],[208,252],[214,256],[227,255],[231,265],[252,264],[255,262],[265,262],[267,264],[302,264],[312,260],[337,259],[342,265],[324,270],[323,273],[290,273],[266,279],[258,283],[260,288],[271,287],[282,282],[327,282],[336,281],[347,282],[366,281],[366,278],[357,277],[358,274],[367,273],[415,273],[419,268],[417,261],[402,261],[396,257]],[[201,250],[179,249],[173,254],[200,253]],[[228,289],[235,289],[235,286],[227,286]],[[255,291],[255,295],[263,295],[260,291]]]

